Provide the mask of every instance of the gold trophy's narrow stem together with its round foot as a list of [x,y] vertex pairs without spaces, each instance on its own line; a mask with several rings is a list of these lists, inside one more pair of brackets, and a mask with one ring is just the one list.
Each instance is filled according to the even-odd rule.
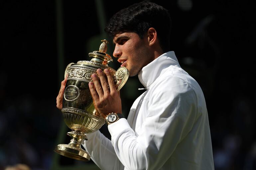
[[57,145],[54,151],[72,159],[89,161],[90,155],[81,148],[82,141],[87,140],[86,135],[77,131],[68,132],[67,135],[71,137],[70,142]]

